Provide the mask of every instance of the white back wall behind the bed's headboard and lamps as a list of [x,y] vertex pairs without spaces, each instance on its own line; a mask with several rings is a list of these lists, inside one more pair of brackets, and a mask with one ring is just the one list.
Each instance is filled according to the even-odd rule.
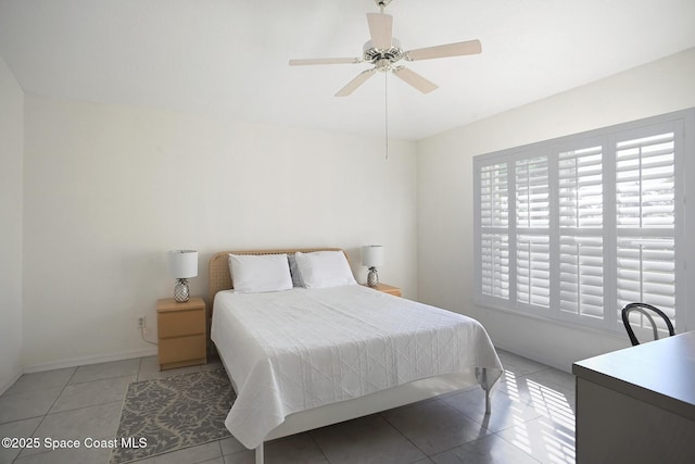
[[24,358],[37,371],[154,353],[166,251],[334,246],[416,296],[415,143],[26,96]]

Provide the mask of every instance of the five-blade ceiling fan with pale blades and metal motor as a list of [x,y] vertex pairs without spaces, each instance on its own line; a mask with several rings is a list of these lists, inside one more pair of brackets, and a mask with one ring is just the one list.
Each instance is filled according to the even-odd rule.
[[468,40],[464,42],[446,43],[434,47],[426,47],[416,50],[404,51],[399,39],[393,37],[393,16],[384,14],[383,9],[392,0],[375,0],[380,13],[367,13],[367,24],[371,40],[363,47],[363,55],[359,58],[309,58],[301,60],[290,60],[290,66],[303,66],[314,64],[359,64],[371,63],[374,67],[363,71],[355,78],[340,89],[336,97],[348,97],[361,85],[376,74],[391,71],[396,77],[412,85],[422,93],[429,93],[437,89],[433,84],[407,67],[396,64],[401,60],[419,61],[432,60],[435,58],[462,57],[466,54],[477,54],[482,51],[480,40]]

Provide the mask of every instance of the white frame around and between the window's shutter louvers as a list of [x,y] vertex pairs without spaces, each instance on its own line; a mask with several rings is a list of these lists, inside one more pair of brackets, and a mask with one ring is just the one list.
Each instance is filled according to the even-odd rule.
[[[623,330],[622,323],[619,321],[618,297],[617,297],[617,216],[616,216],[616,146],[619,140],[626,136],[640,138],[646,137],[654,131],[673,131],[674,134],[674,215],[675,224],[673,227],[674,248],[675,248],[675,319],[674,325],[677,331],[685,331],[687,321],[687,276],[686,276],[686,255],[692,253],[692,248],[685,242],[684,222],[685,222],[685,189],[684,171],[686,166],[692,166],[692,162],[687,158],[695,156],[695,109],[683,110],[674,113],[668,113],[659,116],[653,116],[640,121],[619,124],[586,133],[576,134],[552,140],[545,140],[529,146],[511,148],[494,153],[488,153],[473,158],[473,250],[475,250],[475,271],[476,287],[475,302],[478,305],[491,309],[509,311],[517,314],[528,315],[530,317],[556,321],[572,326],[591,327],[593,329],[617,331]],[[603,188],[603,227],[601,228],[603,237],[603,317],[587,317],[581,315],[569,314],[559,309],[559,201],[558,187],[558,155],[564,151],[580,150],[587,147],[602,147],[602,188]],[[548,204],[549,204],[549,305],[543,308],[540,305],[521,303],[517,301],[517,236],[522,235],[523,230],[530,233],[542,233],[542,229],[523,229],[517,226],[516,214],[516,195],[515,185],[515,165],[519,160],[529,158],[547,156],[548,160]],[[481,225],[481,171],[491,165],[505,164],[507,166],[507,226],[484,227]],[[693,181],[693,180],[688,180]],[[691,220],[688,220],[691,221]],[[507,298],[493,297],[482,292],[482,236],[483,234],[502,234],[507,235],[507,267],[508,267],[508,291]],[[577,230],[578,234],[596,235],[595,229]],[[564,236],[567,237],[567,236]],[[490,261],[490,260],[488,260]]]

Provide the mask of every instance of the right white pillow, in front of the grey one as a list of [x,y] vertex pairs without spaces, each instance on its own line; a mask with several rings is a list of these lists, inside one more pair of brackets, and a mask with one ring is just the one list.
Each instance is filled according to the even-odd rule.
[[312,253],[298,251],[294,256],[306,288],[357,284],[342,251],[314,251]]

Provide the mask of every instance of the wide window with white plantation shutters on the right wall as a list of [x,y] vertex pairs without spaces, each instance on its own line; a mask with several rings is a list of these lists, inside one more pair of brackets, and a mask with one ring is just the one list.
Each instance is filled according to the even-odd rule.
[[477,302],[616,329],[642,301],[683,327],[679,165],[694,115],[476,156]]

